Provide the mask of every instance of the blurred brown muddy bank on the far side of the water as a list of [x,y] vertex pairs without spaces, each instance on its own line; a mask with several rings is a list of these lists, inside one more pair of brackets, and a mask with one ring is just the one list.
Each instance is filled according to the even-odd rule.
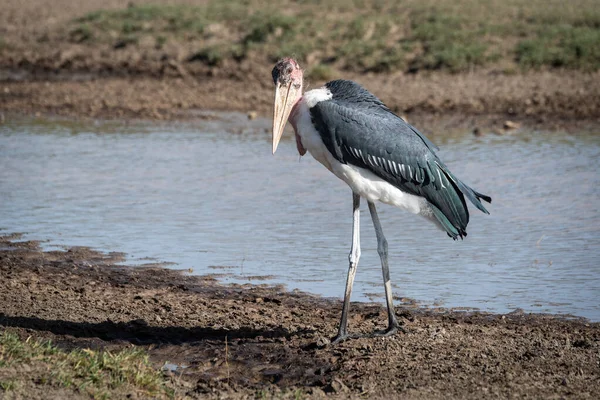
[[[260,65],[244,79],[138,76],[4,81],[0,112],[3,120],[12,114],[189,120],[197,117],[197,110],[268,117],[273,101],[270,67]],[[343,77],[362,83],[424,130],[443,131],[447,125],[500,130],[510,120],[530,129],[577,131],[594,129],[600,121],[598,74]],[[309,88],[322,83],[309,82]]]

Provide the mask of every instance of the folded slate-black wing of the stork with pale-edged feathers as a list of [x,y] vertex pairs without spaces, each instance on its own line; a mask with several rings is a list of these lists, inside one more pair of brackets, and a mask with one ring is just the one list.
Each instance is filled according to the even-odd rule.
[[333,98],[317,103],[310,113],[323,143],[339,162],[365,168],[400,190],[427,199],[454,239],[467,234],[464,196],[488,213],[480,199],[491,198],[458,180],[435,155],[435,146],[379,99],[351,81],[328,85]]

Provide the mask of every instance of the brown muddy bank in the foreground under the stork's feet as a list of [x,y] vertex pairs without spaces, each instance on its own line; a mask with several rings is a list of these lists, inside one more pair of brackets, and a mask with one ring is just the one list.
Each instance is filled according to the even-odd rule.
[[[140,346],[157,368],[188,366],[172,377],[178,397],[600,395],[597,323],[399,308],[407,334],[327,346],[339,300],[222,286],[210,277],[123,266],[120,254],[43,252],[15,239],[0,241],[0,329],[64,348]],[[382,305],[353,304],[352,332],[385,323]],[[64,394],[39,385],[38,393]]]

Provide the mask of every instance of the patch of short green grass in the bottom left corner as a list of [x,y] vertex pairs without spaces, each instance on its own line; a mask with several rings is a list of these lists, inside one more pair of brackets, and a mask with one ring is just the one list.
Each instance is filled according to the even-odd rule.
[[[15,372],[22,365],[31,372]],[[23,341],[9,332],[0,332],[0,377],[0,393],[18,390],[33,379],[36,385],[70,388],[94,398],[110,398],[120,390],[172,397],[162,373],[142,350],[64,351],[49,341]]]

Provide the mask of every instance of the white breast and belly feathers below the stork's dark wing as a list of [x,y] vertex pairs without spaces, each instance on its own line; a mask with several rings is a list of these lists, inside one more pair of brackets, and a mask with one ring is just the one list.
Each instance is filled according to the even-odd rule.
[[[318,90],[322,89],[307,92],[305,93],[305,97]],[[302,141],[302,146],[318,162],[323,164],[335,176],[346,182],[354,193],[364,197],[368,201],[380,201],[390,204],[413,214],[422,215],[435,222],[435,218],[425,198],[405,193],[365,168],[342,164],[336,160],[329,150],[327,150],[319,132],[312,124],[309,106],[307,105],[307,102],[310,103],[311,100],[310,97],[308,99],[303,98],[300,104],[298,104],[298,110],[294,115],[294,125]]]

